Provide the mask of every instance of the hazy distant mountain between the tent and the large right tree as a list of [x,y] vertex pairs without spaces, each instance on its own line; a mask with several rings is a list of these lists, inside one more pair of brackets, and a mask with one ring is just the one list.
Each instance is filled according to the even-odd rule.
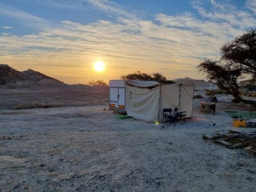
[[217,86],[212,83],[211,81],[205,81],[203,79],[192,79],[189,77],[186,78],[179,78],[179,79],[174,79],[176,83],[182,83],[182,84],[194,84],[196,89],[216,89]]

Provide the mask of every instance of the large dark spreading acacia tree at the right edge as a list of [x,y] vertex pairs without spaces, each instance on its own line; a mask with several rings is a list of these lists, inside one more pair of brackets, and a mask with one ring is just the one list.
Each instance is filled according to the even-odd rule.
[[221,48],[221,59],[212,61],[205,59],[198,70],[206,75],[208,80],[232,94],[238,101],[254,105],[256,101],[246,100],[240,96],[238,81],[249,77],[256,79],[256,29],[247,31],[242,36],[227,42]]

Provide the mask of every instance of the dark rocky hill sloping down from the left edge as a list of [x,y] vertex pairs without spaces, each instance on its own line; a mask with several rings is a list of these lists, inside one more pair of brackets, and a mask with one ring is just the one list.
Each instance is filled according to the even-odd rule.
[[63,82],[39,73],[37,71],[33,71],[31,69],[27,71],[17,71],[11,68],[8,65],[0,64],[0,86],[6,85],[24,85],[24,84],[63,84]]

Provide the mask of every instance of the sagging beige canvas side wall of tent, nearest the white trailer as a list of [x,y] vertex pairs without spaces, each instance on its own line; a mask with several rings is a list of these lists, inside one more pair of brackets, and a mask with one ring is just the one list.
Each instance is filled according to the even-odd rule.
[[126,84],[125,111],[135,119],[156,122],[159,118],[160,87],[140,88]]

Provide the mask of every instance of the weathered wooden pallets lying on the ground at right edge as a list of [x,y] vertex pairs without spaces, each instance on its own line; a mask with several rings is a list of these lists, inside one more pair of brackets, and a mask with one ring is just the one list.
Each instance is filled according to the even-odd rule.
[[203,135],[203,139],[211,140],[214,143],[225,145],[227,148],[239,148],[250,146],[247,150],[255,150],[256,132],[240,132],[234,130],[228,130],[228,133],[224,134],[216,132],[213,136]]

